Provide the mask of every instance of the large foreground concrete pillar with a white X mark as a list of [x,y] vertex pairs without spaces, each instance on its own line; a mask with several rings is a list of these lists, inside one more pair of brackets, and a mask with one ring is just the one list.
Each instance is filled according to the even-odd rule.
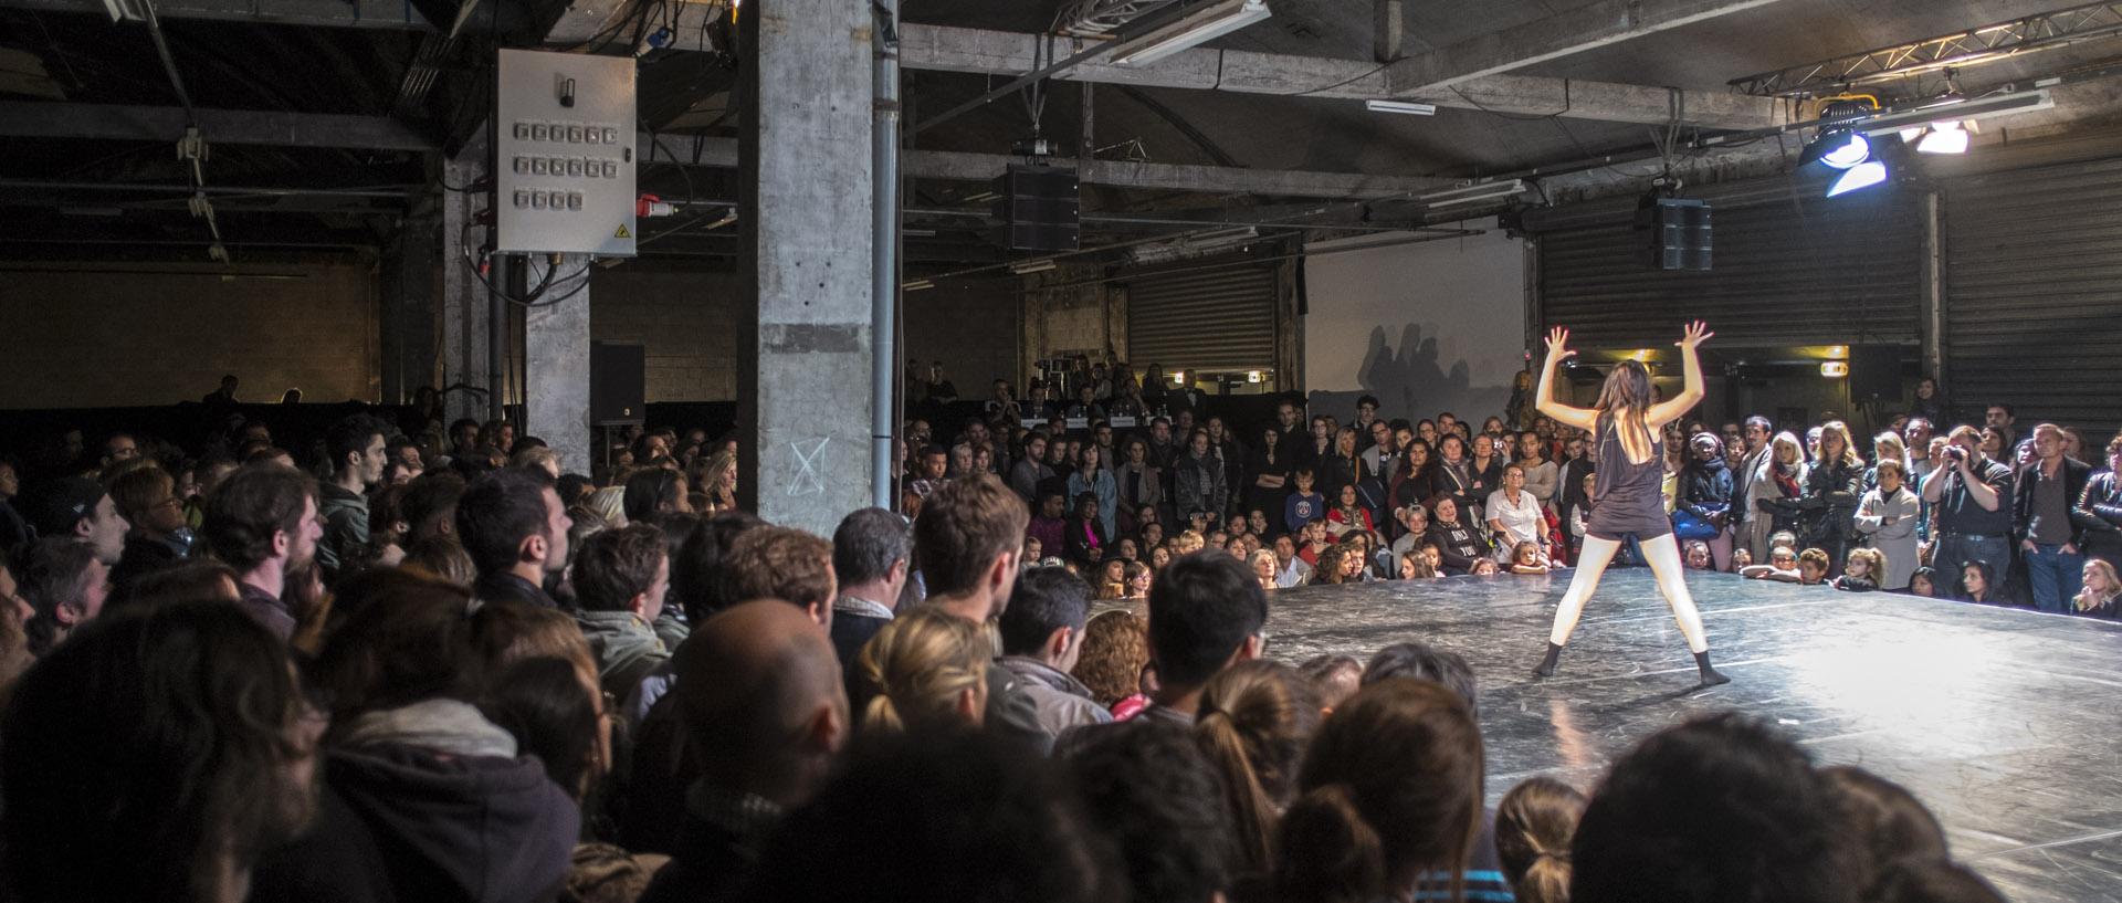
[[832,536],[870,504],[870,53],[862,0],[753,0],[743,40],[738,492]]

